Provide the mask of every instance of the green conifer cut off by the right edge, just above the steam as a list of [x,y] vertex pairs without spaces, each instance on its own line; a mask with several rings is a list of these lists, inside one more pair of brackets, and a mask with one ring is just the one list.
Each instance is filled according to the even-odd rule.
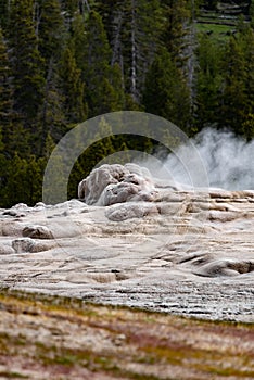
[[244,27],[238,36],[230,38],[226,49],[220,125],[244,135],[247,139],[253,136],[253,59],[254,30]]

